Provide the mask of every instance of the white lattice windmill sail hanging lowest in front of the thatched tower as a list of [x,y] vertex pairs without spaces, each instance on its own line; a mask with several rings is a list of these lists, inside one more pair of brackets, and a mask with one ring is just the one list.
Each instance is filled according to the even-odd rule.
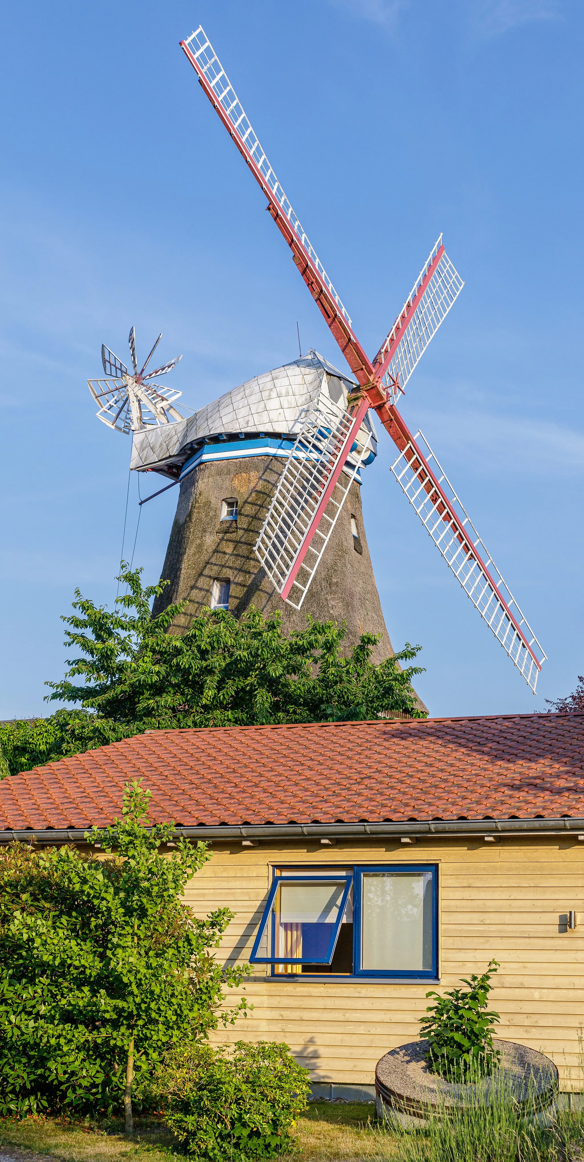
[[[326,410],[324,408],[326,407]],[[284,601],[300,609],[340,516],[353,480],[370,450],[359,429],[368,410],[352,411],[320,399],[307,415],[288,456],[255,554]],[[351,465],[343,468],[351,456]]]

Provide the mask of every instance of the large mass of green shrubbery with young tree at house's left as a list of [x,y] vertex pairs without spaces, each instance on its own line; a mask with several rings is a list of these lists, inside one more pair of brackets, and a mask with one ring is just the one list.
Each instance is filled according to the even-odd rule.
[[0,1113],[120,1105],[130,1047],[139,1079],[178,1030],[216,1028],[241,978],[210,952],[232,913],[195,919],[180,899],[207,846],[160,854],[173,829],[146,830],[149,794],[127,788],[123,818],[87,837],[106,859],[0,849]]

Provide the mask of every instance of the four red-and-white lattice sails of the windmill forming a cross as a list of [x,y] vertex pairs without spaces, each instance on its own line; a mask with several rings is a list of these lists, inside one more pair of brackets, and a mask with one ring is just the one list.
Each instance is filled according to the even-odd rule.
[[[304,416],[254,546],[258,559],[282,600],[301,609],[343,512],[349,492],[347,461],[373,409],[397,447],[391,465],[397,482],[464,593],[535,693],[546,654],[432,449],[421,432],[412,436],[397,409],[405,383],[463,286],[441,236],[370,359],[202,27],[180,46],[266,195],[267,209],[358,383],[346,407],[339,406],[336,414],[330,408],[323,411],[317,401]],[[352,471],[358,469],[359,464]]]

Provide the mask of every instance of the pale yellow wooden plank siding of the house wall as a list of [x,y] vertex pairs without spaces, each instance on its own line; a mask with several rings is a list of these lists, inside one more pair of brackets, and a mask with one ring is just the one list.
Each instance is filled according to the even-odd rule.
[[[376,862],[439,865],[440,984],[268,978],[255,967],[245,983],[253,1012],[216,1039],[286,1041],[313,1081],[373,1084],[377,1060],[418,1035],[426,990],[453,988],[495,957],[498,1035],[549,1054],[563,1088],[582,1090],[584,844],[576,837],[216,844],[186,901],[196,916],[223,905],[236,913],[217,953],[235,963],[250,955],[274,866]],[[569,909],[579,913],[575,931],[561,924]]]

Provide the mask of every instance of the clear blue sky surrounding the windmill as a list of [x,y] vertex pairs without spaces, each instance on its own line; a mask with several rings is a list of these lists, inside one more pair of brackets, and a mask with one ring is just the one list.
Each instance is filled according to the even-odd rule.
[[[161,330],[194,408],[294,359],[296,321],[343,366],[179,49],[200,22],[370,354],[444,231],[466,286],[402,410],[548,654],[538,697],[402,495],[383,430],[367,537],[432,713],[545,709],[584,668],[582,5],[31,0],[5,7],[0,70],[0,717],[48,712],[75,586],[115,597],[130,440],[94,416],[101,343],[123,357],[134,323],[145,357]],[[137,500],[132,476],[125,555]],[[175,502],[143,509],[147,581]]]

